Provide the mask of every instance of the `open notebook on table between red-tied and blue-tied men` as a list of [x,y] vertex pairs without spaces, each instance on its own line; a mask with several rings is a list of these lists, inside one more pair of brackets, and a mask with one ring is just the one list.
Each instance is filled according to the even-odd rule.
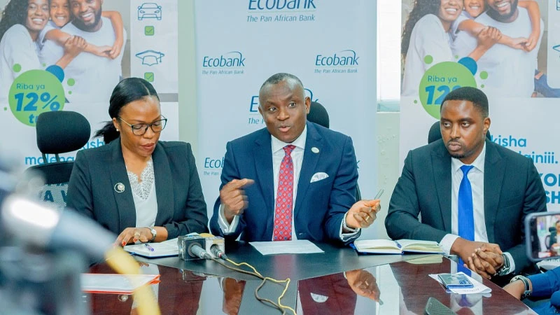
[[360,239],[354,241],[358,253],[403,254],[403,253],[444,253],[436,241],[416,239]]

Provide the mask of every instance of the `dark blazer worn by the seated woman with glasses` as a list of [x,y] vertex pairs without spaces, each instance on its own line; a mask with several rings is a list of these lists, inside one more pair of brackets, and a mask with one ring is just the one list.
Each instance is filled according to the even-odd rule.
[[[207,232],[208,216],[190,144],[158,141],[152,153],[158,214],[155,226],[167,228],[168,239]],[[115,186],[123,183],[118,193]],[[120,139],[78,151],[68,185],[67,205],[120,234],[136,226],[136,209]]]

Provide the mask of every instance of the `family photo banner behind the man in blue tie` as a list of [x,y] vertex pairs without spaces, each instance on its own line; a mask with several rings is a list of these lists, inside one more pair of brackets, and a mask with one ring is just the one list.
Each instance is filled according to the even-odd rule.
[[451,90],[489,97],[491,141],[531,158],[560,210],[557,1],[402,0],[400,166],[427,143]]

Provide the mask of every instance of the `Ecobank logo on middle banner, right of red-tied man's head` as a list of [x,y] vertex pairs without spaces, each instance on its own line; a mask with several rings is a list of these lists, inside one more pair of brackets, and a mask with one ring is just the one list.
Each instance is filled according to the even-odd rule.
[[356,50],[315,55],[315,73],[357,73],[360,57]]

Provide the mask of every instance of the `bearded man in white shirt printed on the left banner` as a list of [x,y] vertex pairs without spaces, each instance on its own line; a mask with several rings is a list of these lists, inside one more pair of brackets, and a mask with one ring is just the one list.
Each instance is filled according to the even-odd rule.
[[[83,37],[87,43],[112,46],[116,35],[109,18],[102,17],[103,0],[70,0],[72,22],[62,27],[67,34]],[[123,29],[123,42],[126,32]],[[41,50],[41,61],[54,64],[62,55],[62,47],[55,41],[46,41]],[[70,102],[106,102],[113,87],[122,76],[121,60],[124,49],[115,59],[100,57],[92,53],[81,53],[64,69],[64,80],[75,83],[65,85]],[[68,92],[70,91],[71,94]]]

